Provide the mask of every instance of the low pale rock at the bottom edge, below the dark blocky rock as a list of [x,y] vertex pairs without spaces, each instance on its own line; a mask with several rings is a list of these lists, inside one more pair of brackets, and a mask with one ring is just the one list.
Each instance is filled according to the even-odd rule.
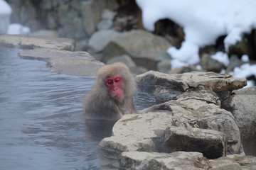
[[208,159],[198,152],[123,152],[120,166],[123,169],[210,169]]

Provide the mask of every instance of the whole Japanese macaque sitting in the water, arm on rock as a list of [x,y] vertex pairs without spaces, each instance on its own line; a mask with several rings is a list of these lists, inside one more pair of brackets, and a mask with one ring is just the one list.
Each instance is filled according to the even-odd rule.
[[119,120],[124,114],[172,111],[167,103],[141,111],[134,108],[132,96],[137,85],[126,65],[114,63],[99,69],[94,86],[84,98],[85,116],[92,120]]

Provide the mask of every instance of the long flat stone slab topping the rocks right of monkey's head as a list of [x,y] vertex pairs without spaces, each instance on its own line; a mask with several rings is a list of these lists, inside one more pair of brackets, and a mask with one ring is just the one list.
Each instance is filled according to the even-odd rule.
[[232,91],[247,85],[246,79],[232,77],[215,72],[187,72],[183,74],[165,74],[149,71],[136,77],[138,84],[164,86],[166,89],[186,91],[199,85],[208,86],[213,91]]

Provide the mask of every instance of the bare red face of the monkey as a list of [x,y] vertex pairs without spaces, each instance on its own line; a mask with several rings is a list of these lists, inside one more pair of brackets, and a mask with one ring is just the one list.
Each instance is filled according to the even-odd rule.
[[105,81],[105,84],[110,88],[110,95],[112,98],[120,100],[123,98],[124,94],[122,91],[123,80],[121,76],[110,77]]

